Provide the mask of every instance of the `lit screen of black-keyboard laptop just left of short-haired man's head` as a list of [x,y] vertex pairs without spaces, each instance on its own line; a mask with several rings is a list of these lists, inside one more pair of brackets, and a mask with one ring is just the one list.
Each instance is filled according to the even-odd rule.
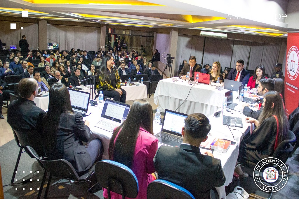
[[187,114],[165,109],[162,131],[181,136]]

